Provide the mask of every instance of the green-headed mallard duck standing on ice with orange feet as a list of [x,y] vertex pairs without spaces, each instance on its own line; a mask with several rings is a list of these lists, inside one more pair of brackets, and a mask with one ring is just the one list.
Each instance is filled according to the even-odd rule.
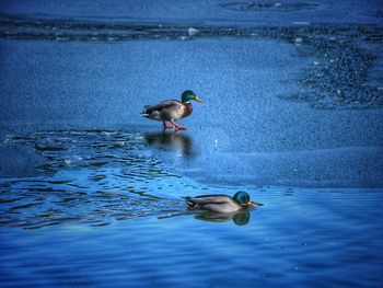
[[[186,90],[182,94],[182,101],[167,100],[156,105],[146,105],[146,110],[141,113],[141,116],[152,120],[161,120],[164,129],[171,129],[174,126],[176,129],[185,130],[186,127],[176,124],[175,120],[185,118],[192,114],[192,100],[202,102],[193,91]],[[171,124],[166,125],[166,122]]]

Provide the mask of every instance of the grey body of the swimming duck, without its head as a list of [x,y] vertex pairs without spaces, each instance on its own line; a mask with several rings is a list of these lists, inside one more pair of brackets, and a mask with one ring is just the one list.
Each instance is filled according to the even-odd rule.
[[196,209],[204,209],[213,212],[235,212],[243,209],[232,197],[227,195],[204,195],[186,197],[186,204]]

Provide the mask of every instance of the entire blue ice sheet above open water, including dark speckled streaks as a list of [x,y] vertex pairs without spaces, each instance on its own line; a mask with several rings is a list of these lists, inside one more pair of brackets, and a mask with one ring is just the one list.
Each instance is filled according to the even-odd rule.
[[[176,173],[382,187],[381,2],[249,3],[0,1],[1,140],[83,128],[150,138],[161,126],[142,106],[192,89],[204,104],[178,145],[193,157],[152,148]],[[36,173],[23,146],[1,143],[0,158],[1,177]]]

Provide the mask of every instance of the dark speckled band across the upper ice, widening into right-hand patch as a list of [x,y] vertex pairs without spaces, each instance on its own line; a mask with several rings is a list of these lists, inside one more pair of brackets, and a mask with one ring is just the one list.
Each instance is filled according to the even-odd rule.
[[[285,5],[285,4],[283,4]],[[382,59],[379,25],[307,24],[291,26],[207,26],[138,22],[102,22],[85,19],[0,16],[0,37],[106,42],[196,38],[252,38],[287,42],[300,56],[316,59],[299,81],[305,92],[280,99],[309,102],[314,108],[379,108],[383,106],[382,76],[371,68]],[[363,46],[376,46],[365,49]],[[380,48],[379,48],[380,47]],[[370,81],[374,78],[374,83]]]

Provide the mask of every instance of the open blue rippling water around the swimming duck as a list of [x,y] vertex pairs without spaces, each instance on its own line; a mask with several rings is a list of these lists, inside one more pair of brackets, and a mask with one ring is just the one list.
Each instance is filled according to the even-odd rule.
[[[144,136],[62,130],[7,138],[44,160],[38,176],[1,180],[4,286],[382,280],[381,189],[205,185],[171,173]],[[162,142],[165,153],[174,153],[173,141]],[[181,198],[240,188],[265,206],[209,215],[188,211]]]

